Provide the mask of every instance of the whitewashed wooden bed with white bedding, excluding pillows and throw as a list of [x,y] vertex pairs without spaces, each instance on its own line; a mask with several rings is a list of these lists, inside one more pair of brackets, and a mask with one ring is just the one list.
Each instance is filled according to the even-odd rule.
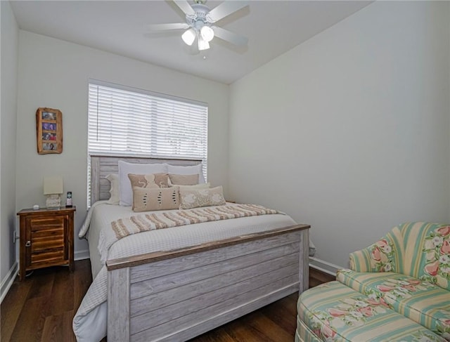
[[[194,223],[124,237],[102,230],[133,216],[108,204],[118,162],[195,166],[198,160],[91,157],[93,283],[73,320],[77,341],[186,341],[308,287],[309,225],[274,213]],[[238,206],[239,204],[226,204]]]

